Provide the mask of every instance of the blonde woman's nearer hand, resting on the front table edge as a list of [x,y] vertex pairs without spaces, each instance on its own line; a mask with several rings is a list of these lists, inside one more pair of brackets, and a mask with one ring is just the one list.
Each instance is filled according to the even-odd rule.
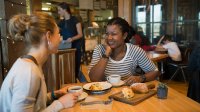
[[60,97],[58,100],[63,104],[64,108],[69,108],[74,106],[80,94],[81,93],[67,93],[64,96]]

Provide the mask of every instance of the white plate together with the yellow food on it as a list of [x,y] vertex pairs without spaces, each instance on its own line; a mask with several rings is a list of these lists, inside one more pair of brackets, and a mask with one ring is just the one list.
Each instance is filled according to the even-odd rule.
[[108,82],[91,82],[83,85],[83,89],[92,94],[102,94],[110,90],[112,85]]

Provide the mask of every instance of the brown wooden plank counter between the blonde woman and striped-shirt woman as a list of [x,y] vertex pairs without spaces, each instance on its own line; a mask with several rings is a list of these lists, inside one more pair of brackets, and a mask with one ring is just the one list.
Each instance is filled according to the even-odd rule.
[[75,83],[76,49],[59,50],[44,65],[48,91],[59,89],[63,84]]

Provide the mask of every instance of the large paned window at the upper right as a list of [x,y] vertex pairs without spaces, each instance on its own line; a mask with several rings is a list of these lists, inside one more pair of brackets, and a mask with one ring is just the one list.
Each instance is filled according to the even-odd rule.
[[200,41],[200,0],[135,0],[133,26],[156,44],[160,36],[173,35],[178,43]]

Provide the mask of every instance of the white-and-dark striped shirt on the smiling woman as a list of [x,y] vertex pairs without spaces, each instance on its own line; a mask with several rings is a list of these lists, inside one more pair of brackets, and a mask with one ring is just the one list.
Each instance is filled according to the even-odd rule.
[[[131,75],[136,74],[135,70],[137,66],[140,66],[140,68],[142,68],[145,73],[157,70],[157,67],[147,57],[144,50],[130,43],[126,43],[126,46],[126,54],[122,60],[115,61],[111,57],[109,57],[106,69],[104,71],[106,77],[109,75],[118,74],[121,75],[122,80],[125,80]],[[95,47],[89,71],[94,65],[99,62],[104,53],[105,48],[103,47],[103,45],[97,45]]]

